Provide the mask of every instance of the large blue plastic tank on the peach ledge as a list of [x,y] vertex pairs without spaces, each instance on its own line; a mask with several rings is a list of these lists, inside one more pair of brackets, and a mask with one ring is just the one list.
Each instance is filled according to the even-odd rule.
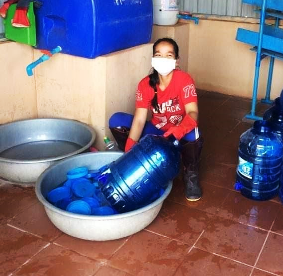
[[152,0],[41,0],[35,9],[38,49],[95,58],[148,43]]

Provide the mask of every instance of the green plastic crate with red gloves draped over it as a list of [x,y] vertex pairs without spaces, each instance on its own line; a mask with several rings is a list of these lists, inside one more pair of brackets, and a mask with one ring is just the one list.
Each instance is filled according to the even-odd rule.
[[33,2],[29,4],[27,11],[27,17],[30,23],[30,26],[27,28],[18,28],[12,26],[12,19],[14,17],[15,10],[16,10],[16,4],[12,4],[7,11],[6,18],[4,19],[5,37],[13,41],[35,46],[36,32],[35,32],[35,16],[33,12]]

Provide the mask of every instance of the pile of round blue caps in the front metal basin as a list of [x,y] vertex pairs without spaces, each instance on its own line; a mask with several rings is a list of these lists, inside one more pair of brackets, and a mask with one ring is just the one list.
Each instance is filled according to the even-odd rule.
[[105,168],[89,170],[79,167],[67,173],[67,181],[51,190],[47,200],[63,210],[87,215],[117,213],[105,200],[98,187],[98,177]]

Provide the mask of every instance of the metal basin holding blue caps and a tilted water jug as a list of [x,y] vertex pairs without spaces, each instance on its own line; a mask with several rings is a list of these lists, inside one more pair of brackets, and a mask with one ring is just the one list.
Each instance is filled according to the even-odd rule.
[[66,180],[70,169],[87,166],[89,169],[99,169],[101,166],[116,160],[121,152],[83,153],[64,159],[48,168],[38,178],[35,193],[43,204],[45,211],[53,224],[64,233],[85,240],[114,240],[134,234],[149,225],[159,213],[164,200],[172,189],[172,182],[164,194],[146,207],[113,215],[84,215],[64,211],[51,205],[46,196],[49,191]]

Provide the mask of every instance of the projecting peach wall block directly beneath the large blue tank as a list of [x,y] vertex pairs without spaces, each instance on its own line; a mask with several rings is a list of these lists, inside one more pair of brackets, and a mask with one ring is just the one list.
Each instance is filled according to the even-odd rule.
[[[134,112],[135,91],[151,68],[152,44],[96,59],[57,54],[35,69],[38,117],[75,119],[94,127],[95,146],[111,136],[108,119],[117,111]],[[35,58],[42,54],[34,50]]]

